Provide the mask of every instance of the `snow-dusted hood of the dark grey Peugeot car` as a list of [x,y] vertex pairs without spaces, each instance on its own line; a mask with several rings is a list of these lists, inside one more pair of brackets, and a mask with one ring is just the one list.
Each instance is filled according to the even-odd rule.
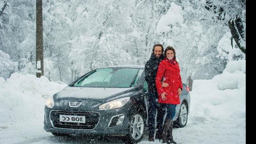
[[97,100],[106,102],[118,98],[128,97],[134,93],[134,88],[94,88],[67,86],[54,95],[55,100]]

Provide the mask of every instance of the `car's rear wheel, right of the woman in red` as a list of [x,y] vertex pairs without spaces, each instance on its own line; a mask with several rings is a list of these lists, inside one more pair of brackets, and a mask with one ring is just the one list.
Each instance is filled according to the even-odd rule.
[[179,115],[176,121],[173,122],[173,127],[180,128],[186,126],[188,122],[188,106],[184,101],[180,105]]

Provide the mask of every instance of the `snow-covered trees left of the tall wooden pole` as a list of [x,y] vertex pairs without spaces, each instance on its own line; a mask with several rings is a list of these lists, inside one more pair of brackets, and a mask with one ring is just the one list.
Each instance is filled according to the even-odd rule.
[[[0,1],[0,5],[3,4]],[[29,0],[8,1],[0,17],[1,50],[15,61],[35,57],[35,4]],[[31,53],[32,52],[32,53]]]

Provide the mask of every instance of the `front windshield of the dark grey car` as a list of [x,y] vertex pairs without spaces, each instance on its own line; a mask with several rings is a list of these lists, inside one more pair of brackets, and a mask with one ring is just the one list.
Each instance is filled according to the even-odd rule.
[[80,78],[74,87],[132,87],[138,82],[143,69],[100,68]]

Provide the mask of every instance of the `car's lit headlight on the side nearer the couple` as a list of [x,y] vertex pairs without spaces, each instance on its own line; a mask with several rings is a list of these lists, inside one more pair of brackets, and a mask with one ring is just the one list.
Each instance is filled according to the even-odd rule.
[[130,97],[113,100],[113,101],[104,103],[103,105],[100,105],[99,109],[105,110],[105,109],[112,109],[112,108],[120,108],[120,107],[123,107],[129,100],[130,100]]

